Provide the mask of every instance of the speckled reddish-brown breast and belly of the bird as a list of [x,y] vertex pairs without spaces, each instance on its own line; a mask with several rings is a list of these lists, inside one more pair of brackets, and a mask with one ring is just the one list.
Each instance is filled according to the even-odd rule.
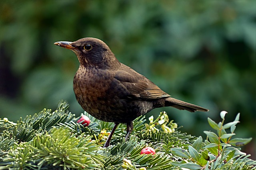
[[77,70],[74,93],[86,112],[102,121],[126,123],[152,109],[152,102],[129,100],[121,85],[113,83],[113,74],[109,70],[81,66]]

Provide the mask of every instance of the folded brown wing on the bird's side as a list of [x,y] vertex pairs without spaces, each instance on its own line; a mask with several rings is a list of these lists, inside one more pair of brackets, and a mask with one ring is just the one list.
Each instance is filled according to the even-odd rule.
[[156,84],[134,70],[119,70],[115,73],[114,78],[118,81],[118,84],[128,91],[129,98],[150,100],[170,97],[169,94],[161,90]]

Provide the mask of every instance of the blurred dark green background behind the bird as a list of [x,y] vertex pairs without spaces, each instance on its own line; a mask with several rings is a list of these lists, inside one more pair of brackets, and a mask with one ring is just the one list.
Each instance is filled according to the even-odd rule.
[[255,159],[256,1],[45,0],[0,1],[0,118],[17,121],[60,100],[83,112],[72,89],[79,66],[56,41],[96,37],[118,60],[145,75],[174,98],[210,109],[166,111],[180,130],[202,135],[241,113],[238,137]]

